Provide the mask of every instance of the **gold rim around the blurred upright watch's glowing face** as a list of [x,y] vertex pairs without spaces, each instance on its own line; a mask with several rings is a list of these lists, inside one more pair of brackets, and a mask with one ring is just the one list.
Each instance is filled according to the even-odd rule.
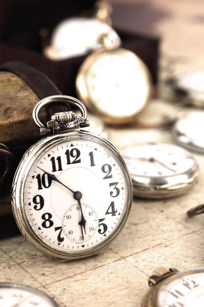
[[[97,106],[97,103],[91,100],[88,88],[86,86],[86,75],[87,71],[91,67],[91,64],[97,60],[101,55],[103,54],[119,54],[123,57],[125,57],[129,61],[134,61],[138,68],[142,71],[146,84],[147,84],[147,93],[146,93],[146,99],[145,102],[143,103],[143,106],[140,107],[139,109],[137,108],[134,113],[132,113],[129,116],[124,116],[124,114],[121,114],[120,116],[113,116],[111,114],[107,114],[105,110],[102,110]],[[119,124],[131,124],[135,122],[136,118],[140,117],[146,107],[149,104],[149,101],[151,100],[153,96],[153,81],[152,77],[150,75],[150,72],[148,71],[146,65],[143,63],[143,61],[132,51],[123,49],[123,48],[117,48],[113,50],[98,50],[93,52],[91,55],[89,55],[85,61],[82,63],[79,72],[76,77],[76,91],[79,99],[87,106],[91,112],[107,123],[107,124],[112,124],[112,125],[119,125]],[[125,107],[125,102],[124,102],[124,107]]]

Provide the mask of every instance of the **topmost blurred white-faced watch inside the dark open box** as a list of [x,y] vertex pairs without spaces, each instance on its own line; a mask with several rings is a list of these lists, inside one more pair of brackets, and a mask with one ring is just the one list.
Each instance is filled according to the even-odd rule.
[[92,17],[72,17],[63,20],[52,33],[51,43],[44,54],[51,60],[65,60],[85,55],[100,49],[99,35],[109,32],[115,48],[120,45],[120,38],[113,30],[110,14],[112,6],[106,1],[97,1]]

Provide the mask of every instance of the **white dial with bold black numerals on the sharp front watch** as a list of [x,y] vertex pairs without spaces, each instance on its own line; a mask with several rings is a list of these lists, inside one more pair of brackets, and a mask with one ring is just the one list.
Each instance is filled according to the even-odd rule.
[[129,188],[116,154],[95,138],[72,135],[32,162],[23,182],[23,210],[46,245],[84,253],[107,242],[123,224]]

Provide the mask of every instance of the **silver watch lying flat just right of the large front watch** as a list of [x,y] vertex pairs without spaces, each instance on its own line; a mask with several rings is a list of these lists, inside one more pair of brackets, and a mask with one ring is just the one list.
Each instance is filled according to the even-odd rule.
[[189,191],[198,179],[194,157],[179,146],[144,143],[120,150],[133,181],[135,196],[174,197]]

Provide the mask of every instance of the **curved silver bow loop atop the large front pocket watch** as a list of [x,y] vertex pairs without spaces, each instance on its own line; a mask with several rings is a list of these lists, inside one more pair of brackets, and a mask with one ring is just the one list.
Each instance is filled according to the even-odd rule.
[[88,127],[89,126],[89,121],[87,121],[87,109],[84,106],[84,104],[82,102],[80,102],[80,100],[78,100],[74,97],[71,97],[71,96],[54,95],[54,96],[49,96],[49,97],[42,99],[33,108],[33,113],[32,113],[33,120],[34,120],[35,124],[40,128],[41,134],[50,133],[50,129],[46,128],[46,126],[40,121],[40,119],[38,117],[40,110],[47,104],[60,103],[60,102],[72,104],[75,107],[77,107],[80,110],[81,115],[82,115],[82,120],[80,121],[80,127]]

